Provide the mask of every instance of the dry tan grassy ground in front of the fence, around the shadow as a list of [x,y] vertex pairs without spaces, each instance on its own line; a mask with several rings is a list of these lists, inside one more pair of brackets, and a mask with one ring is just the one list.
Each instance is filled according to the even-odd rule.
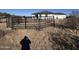
[[[27,36],[31,40],[32,50],[52,50],[52,49],[79,49],[79,31],[46,27],[41,31],[34,29],[6,28],[6,23],[0,23],[0,49],[21,49],[20,41]],[[77,42],[76,42],[77,41]]]

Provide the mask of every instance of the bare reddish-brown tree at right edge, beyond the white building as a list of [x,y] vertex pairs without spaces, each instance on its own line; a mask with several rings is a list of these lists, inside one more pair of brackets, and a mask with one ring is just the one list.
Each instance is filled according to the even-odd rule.
[[72,11],[72,13],[67,17],[66,21],[67,27],[76,30],[79,29],[79,11]]

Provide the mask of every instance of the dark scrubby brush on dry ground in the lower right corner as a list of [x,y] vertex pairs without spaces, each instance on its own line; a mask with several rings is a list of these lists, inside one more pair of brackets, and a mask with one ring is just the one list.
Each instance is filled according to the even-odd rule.
[[49,41],[55,50],[79,49],[79,37],[69,34],[50,33]]

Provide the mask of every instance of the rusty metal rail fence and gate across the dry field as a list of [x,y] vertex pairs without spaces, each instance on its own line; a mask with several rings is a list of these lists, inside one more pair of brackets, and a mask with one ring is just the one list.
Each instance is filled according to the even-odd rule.
[[7,19],[7,27],[12,29],[42,29],[55,25],[54,19],[32,19],[31,17],[12,16]]

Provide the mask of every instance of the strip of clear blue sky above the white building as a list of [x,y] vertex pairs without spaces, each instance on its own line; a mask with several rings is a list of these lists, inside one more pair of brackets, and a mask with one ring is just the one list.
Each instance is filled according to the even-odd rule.
[[0,9],[0,12],[6,12],[20,16],[30,16],[33,12],[39,12],[44,10],[50,12],[60,12],[65,14],[70,14],[73,10],[79,11],[79,9]]

